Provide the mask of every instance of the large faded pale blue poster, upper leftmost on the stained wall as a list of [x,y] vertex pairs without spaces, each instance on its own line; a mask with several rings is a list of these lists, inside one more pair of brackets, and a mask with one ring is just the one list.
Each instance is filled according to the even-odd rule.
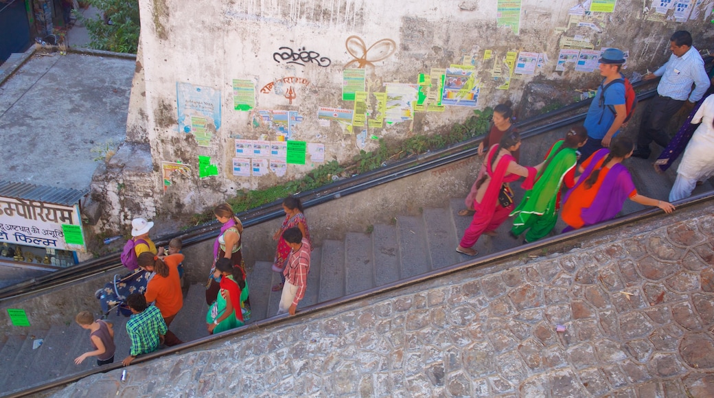
[[209,146],[221,128],[221,91],[177,82],[176,107],[178,131],[193,134],[199,146]]

